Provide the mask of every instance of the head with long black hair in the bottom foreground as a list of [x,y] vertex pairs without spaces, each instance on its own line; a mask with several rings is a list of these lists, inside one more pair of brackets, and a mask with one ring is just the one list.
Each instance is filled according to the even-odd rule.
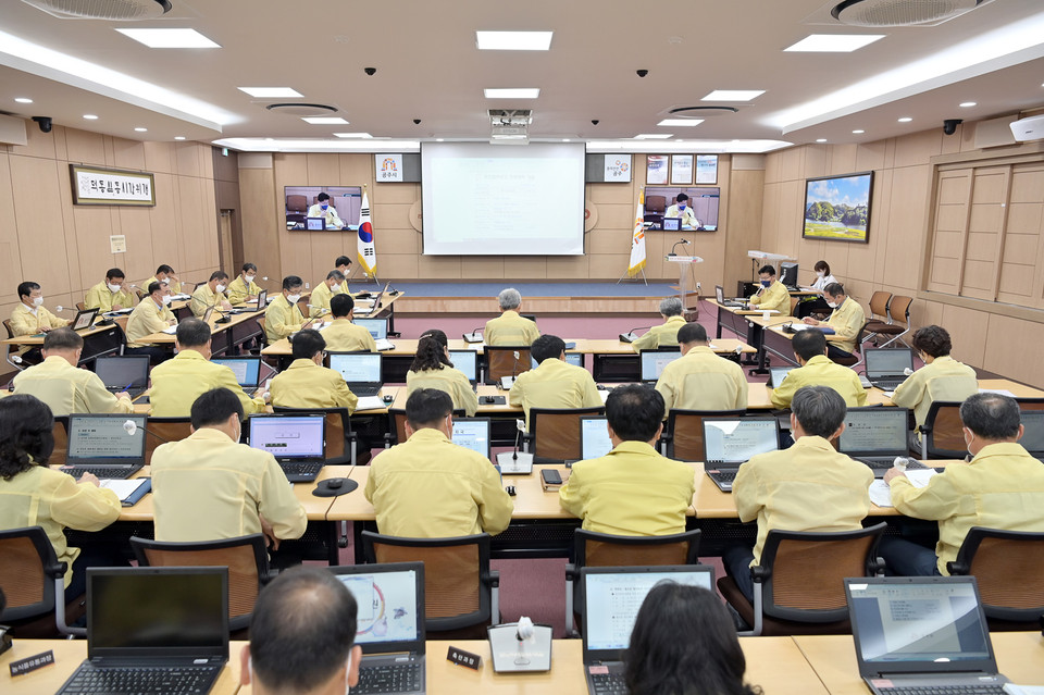
[[624,655],[631,695],[755,695],[736,629],[706,588],[661,582],[652,587]]

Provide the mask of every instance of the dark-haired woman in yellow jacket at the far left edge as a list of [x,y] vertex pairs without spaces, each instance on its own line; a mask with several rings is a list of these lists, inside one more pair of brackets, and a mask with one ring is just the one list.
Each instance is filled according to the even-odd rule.
[[[54,418],[35,396],[0,399],[0,529],[40,526],[54,546],[65,571],[66,603],[87,591],[88,567],[104,567],[119,557],[101,550],[82,554],[65,543],[65,528],[100,531],[120,516],[120,499],[85,473],[71,475],[47,468],[54,450]],[[112,561],[110,561],[112,560]],[[123,563],[123,562],[120,562]]]

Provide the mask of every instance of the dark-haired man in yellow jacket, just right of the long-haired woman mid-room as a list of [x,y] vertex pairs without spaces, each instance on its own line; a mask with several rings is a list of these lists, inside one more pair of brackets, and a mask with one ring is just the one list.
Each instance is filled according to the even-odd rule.
[[591,372],[566,361],[566,342],[557,335],[542,335],[530,348],[536,369],[514,380],[508,402],[522,406],[525,425],[530,408],[600,408],[601,396]]

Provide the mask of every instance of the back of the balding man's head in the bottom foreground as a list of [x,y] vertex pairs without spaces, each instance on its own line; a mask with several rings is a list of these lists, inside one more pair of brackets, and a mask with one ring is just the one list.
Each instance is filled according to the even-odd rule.
[[253,675],[272,692],[311,692],[348,661],[358,606],[328,570],[279,572],[258,596],[250,619]]

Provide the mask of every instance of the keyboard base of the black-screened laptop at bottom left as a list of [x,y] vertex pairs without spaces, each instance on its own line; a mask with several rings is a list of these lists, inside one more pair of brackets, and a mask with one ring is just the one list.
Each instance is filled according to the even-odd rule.
[[115,667],[83,666],[62,694],[88,693],[207,693],[221,667]]

